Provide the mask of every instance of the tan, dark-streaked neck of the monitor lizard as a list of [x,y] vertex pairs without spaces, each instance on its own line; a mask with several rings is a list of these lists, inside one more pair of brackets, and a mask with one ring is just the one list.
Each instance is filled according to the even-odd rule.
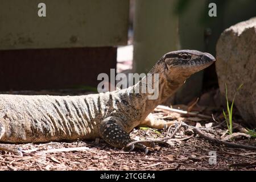
[[170,77],[166,75],[163,65],[160,68],[154,67],[141,81],[126,89],[129,103],[135,110],[139,110],[139,121],[144,120],[156,106],[174,94],[187,78]]

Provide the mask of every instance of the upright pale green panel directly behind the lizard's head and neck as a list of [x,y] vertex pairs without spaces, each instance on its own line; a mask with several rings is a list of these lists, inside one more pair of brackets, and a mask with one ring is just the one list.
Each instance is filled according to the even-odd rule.
[[134,72],[147,73],[166,52],[176,50],[178,17],[170,0],[135,0]]

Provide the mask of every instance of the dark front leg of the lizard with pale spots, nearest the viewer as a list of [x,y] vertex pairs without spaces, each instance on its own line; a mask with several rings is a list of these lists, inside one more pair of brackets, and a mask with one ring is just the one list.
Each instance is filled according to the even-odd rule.
[[[133,142],[130,135],[124,130],[121,119],[118,117],[108,117],[102,121],[100,125],[100,136],[105,142],[117,148],[127,148],[127,144]],[[147,153],[147,147],[144,144],[137,143],[127,149],[132,151],[134,148]]]

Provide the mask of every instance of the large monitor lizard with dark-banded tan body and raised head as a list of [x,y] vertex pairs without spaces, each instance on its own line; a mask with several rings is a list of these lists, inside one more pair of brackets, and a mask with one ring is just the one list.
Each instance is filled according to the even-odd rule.
[[[148,86],[142,78],[137,84],[113,92],[85,96],[22,96],[0,94],[0,150],[20,154],[7,143],[38,143],[61,140],[102,138],[113,147],[125,148],[133,140],[129,133],[136,126],[162,129],[171,125],[155,121],[150,113],[184,84],[193,73],[207,68],[215,59],[195,50],[168,52],[149,73],[158,73],[159,96],[136,93]],[[152,79],[152,88],[156,82]],[[144,84],[144,85],[143,85]],[[133,148],[146,150],[137,143]]]

